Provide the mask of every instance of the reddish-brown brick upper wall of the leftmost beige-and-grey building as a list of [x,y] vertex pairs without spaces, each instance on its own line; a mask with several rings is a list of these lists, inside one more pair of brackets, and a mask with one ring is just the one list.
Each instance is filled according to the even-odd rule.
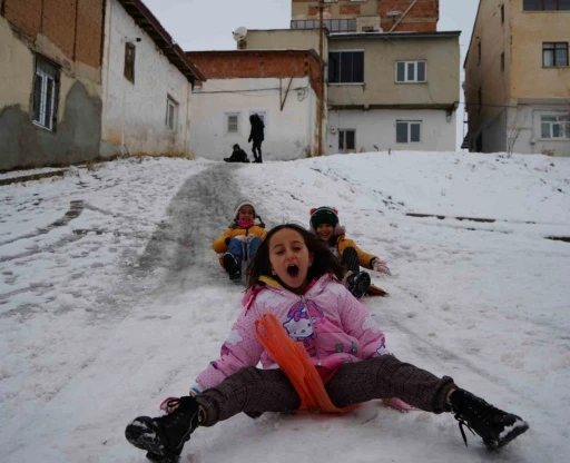
[[101,66],[105,0],[3,0],[4,17],[31,40],[46,36],[71,61]]

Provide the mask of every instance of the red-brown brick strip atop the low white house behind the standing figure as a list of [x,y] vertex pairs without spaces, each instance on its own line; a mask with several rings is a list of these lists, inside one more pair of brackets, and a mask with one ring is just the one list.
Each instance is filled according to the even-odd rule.
[[289,78],[308,76],[321,95],[320,60],[308,51],[189,51],[206,79]]

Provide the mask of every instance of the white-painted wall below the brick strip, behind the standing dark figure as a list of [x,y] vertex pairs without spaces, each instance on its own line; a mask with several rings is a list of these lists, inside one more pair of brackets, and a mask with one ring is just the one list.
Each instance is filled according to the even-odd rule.
[[[289,79],[208,79],[202,89],[195,88],[190,105],[190,148],[195,156],[222,160],[232,154],[234,144],[245,149],[250,160],[249,115],[265,112],[263,160],[288,160],[307,157],[316,149],[316,95],[307,78]],[[262,90],[259,89],[267,89]],[[238,132],[226,130],[226,114],[238,114]]]

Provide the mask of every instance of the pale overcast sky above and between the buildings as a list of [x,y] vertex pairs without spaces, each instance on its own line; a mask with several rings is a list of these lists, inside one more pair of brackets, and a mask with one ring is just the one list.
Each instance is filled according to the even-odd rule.
[[[220,4],[224,12],[220,13]],[[232,31],[247,29],[288,29],[291,0],[145,0],[170,36],[187,51],[235,50]],[[440,0],[440,31],[461,31],[461,81],[463,60],[469,48],[479,0]],[[461,86],[461,81],[459,85]],[[460,91],[456,146],[463,141],[464,96]]]

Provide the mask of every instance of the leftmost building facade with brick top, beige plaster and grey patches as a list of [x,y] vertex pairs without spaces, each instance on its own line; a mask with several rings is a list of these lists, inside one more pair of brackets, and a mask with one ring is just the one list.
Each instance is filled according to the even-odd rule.
[[95,159],[104,0],[0,3],[0,170]]

